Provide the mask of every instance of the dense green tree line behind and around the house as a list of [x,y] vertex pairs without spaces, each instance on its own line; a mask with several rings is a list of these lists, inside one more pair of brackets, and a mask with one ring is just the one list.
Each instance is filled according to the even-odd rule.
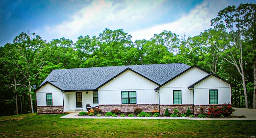
[[171,31],[150,40],[131,41],[122,29],[106,28],[99,36],[80,36],[75,43],[60,38],[46,42],[22,32],[0,47],[0,116],[33,113],[35,85],[54,69],[138,64],[196,64],[232,87],[235,107],[255,108],[256,4],[228,6],[212,19],[212,28],[194,37]]

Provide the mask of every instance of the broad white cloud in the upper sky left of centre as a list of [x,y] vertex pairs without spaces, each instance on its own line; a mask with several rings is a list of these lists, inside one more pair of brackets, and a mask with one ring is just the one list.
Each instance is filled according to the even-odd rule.
[[[40,36],[46,40],[60,37],[72,39],[74,42],[80,35],[98,35],[104,28],[120,29],[126,25],[132,26],[137,20],[143,19],[147,13],[162,1],[147,2],[146,0],[127,0],[113,3],[108,0],[95,0],[78,13],[71,15],[71,21],[64,21],[57,25],[46,25],[35,32],[43,32]],[[97,32],[100,31],[100,32]]]

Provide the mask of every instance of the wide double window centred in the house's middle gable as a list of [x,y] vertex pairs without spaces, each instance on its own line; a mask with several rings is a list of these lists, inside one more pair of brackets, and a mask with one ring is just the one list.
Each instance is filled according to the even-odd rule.
[[136,91],[122,91],[122,104],[136,104]]

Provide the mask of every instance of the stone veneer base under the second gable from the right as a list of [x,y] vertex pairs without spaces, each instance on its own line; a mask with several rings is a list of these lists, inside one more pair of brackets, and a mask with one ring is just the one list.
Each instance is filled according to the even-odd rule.
[[164,114],[166,108],[168,108],[168,111],[170,113],[173,113],[173,109],[177,108],[180,113],[186,113],[188,108],[190,109],[191,113],[194,113],[193,111],[193,105],[160,105],[160,113]]

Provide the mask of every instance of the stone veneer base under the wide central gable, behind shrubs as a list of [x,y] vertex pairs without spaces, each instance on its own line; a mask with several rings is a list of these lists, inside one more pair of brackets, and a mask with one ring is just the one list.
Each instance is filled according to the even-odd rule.
[[99,105],[99,109],[102,110],[103,113],[107,113],[113,109],[118,109],[122,113],[133,113],[134,109],[141,108],[144,112],[156,113],[159,112],[158,104],[124,104],[124,105]]

